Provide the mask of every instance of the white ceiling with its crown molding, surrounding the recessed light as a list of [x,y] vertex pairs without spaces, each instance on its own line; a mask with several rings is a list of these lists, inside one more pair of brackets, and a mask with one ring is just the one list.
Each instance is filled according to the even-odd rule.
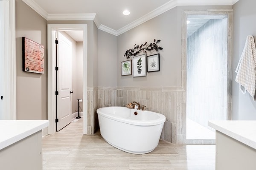
[[[23,0],[46,20],[93,20],[120,35],[175,6],[233,5],[238,0]],[[130,11],[125,16],[122,11]]]

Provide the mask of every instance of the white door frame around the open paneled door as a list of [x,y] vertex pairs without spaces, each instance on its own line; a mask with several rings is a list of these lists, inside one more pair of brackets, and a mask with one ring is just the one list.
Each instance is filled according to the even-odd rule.
[[[83,99],[87,100],[87,24],[48,24],[47,25],[47,46],[48,46],[48,92],[47,92],[47,117],[49,126],[48,134],[55,133],[55,112],[56,112],[56,96],[55,96],[55,40],[54,31],[67,30],[83,30]],[[84,120],[83,131],[87,134],[87,102],[83,102]]]

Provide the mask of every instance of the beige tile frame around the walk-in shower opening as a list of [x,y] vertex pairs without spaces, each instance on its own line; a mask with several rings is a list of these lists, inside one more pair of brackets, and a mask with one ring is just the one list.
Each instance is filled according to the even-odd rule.
[[[187,16],[188,15],[227,15],[227,120],[232,120],[232,57],[233,57],[233,9],[208,9],[205,11],[183,11],[181,28],[181,71],[182,88],[186,92],[187,60]],[[186,104],[186,103],[185,103]],[[186,108],[177,116],[177,144],[215,144],[213,139],[186,139]]]

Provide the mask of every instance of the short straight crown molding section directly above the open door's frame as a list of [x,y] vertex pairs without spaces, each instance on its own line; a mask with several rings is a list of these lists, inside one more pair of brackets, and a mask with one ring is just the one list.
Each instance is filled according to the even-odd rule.
[[48,14],[47,20],[94,20],[96,14]]

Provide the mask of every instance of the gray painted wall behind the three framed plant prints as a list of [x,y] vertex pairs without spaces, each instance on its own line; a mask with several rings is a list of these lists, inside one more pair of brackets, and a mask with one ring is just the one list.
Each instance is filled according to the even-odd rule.
[[[117,86],[181,86],[181,26],[184,11],[232,9],[232,6],[177,6],[117,37]],[[125,51],[159,39],[160,71],[146,77],[121,76]],[[149,53],[149,54],[154,54]],[[148,54],[148,55],[149,55]]]

